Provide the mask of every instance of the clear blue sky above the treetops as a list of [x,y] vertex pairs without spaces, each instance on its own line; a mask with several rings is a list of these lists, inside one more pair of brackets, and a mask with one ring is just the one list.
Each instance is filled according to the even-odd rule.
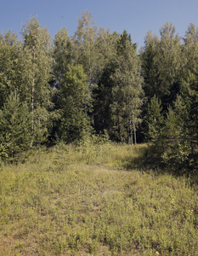
[[21,23],[37,15],[52,38],[63,27],[72,35],[77,17],[86,9],[98,26],[119,33],[126,29],[139,47],[144,45],[146,32],[159,35],[167,21],[181,37],[190,22],[198,26],[198,0],[0,0],[0,33],[12,30],[20,34]]

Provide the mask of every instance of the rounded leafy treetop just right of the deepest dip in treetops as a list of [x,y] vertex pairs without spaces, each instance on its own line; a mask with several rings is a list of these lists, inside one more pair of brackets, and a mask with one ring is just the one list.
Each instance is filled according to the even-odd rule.
[[150,32],[142,50],[144,90],[149,101],[156,95],[167,109],[179,91],[179,80],[184,73],[184,55],[176,28],[168,22],[161,27],[161,38]]

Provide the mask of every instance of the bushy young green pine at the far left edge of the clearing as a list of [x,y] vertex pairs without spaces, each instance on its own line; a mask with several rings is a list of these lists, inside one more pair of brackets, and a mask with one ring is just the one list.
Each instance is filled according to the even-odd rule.
[[8,96],[0,110],[1,157],[15,157],[30,147],[31,116],[25,102],[16,92]]

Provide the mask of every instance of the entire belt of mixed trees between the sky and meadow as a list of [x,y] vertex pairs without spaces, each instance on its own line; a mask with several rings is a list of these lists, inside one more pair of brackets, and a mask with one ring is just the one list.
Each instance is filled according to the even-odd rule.
[[76,32],[54,39],[32,16],[0,35],[0,158],[21,159],[92,137],[148,143],[148,159],[198,171],[198,28],[181,38],[171,23],[144,46],[127,31],[96,26],[85,11]]

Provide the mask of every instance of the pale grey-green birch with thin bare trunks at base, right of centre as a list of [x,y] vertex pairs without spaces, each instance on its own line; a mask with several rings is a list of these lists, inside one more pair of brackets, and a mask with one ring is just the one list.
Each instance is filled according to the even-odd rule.
[[142,79],[140,61],[136,48],[130,41],[130,35],[123,32],[117,40],[117,55],[112,64],[110,119],[112,127],[110,136],[116,141],[136,143],[136,127],[141,112]]

